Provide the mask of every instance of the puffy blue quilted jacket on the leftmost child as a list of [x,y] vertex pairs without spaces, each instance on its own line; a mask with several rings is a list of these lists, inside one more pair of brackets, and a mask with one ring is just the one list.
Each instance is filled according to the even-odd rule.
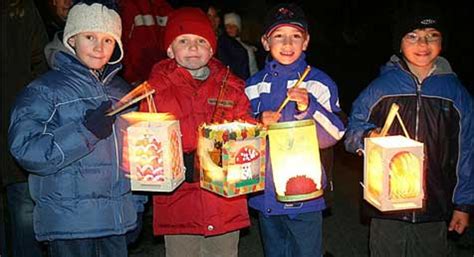
[[124,234],[136,227],[130,180],[120,169],[117,129],[99,140],[84,125],[88,109],[118,101],[129,90],[115,76],[98,77],[70,52],[58,51],[52,70],[17,97],[10,151],[30,172],[33,219],[40,241]]

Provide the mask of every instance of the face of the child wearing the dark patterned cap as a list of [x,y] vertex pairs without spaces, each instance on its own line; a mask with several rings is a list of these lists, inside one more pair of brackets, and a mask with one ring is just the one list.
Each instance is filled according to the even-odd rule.
[[262,37],[266,51],[270,51],[273,59],[283,65],[294,63],[306,50],[309,35],[292,26],[281,26],[270,35]]

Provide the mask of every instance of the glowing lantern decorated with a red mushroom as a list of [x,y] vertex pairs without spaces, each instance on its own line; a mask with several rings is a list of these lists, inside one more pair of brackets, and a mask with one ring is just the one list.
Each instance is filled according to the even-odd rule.
[[248,123],[202,125],[198,144],[201,187],[225,197],[263,190],[265,136],[262,127]]

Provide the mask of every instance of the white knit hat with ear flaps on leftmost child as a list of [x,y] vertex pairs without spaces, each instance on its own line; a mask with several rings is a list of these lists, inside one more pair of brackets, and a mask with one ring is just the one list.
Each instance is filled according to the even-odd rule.
[[[122,60],[123,46],[120,39],[122,36],[122,21],[116,11],[99,3],[74,5],[69,10],[63,36],[63,44],[73,53],[76,52],[67,41],[70,37],[82,32],[102,32],[112,36],[119,47],[120,53],[118,58],[112,55],[109,64],[115,64]],[[114,57],[116,57],[115,60],[112,60]]]

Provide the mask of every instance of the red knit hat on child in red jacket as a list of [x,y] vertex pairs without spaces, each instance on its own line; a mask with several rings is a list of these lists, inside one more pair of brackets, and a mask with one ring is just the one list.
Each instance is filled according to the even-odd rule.
[[183,34],[193,34],[205,38],[211,45],[212,51],[216,52],[216,34],[212,29],[211,21],[201,9],[183,7],[168,16],[164,38],[165,49],[168,49],[176,37]]

